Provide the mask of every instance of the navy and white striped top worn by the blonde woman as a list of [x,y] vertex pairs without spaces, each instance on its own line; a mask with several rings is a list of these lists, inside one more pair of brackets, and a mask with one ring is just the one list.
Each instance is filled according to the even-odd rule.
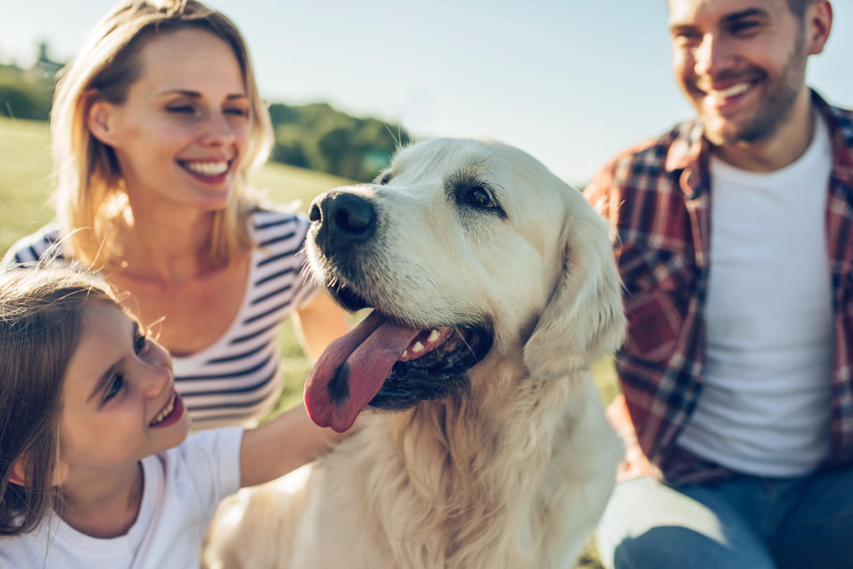
[[[252,424],[273,408],[281,392],[281,323],[316,291],[302,270],[308,222],[292,213],[257,210],[250,224],[256,247],[235,321],[204,350],[173,358],[177,390],[194,429]],[[4,264],[34,264],[58,235],[52,225],[25,237]],[[61,255],[57,260],[65,262]]]

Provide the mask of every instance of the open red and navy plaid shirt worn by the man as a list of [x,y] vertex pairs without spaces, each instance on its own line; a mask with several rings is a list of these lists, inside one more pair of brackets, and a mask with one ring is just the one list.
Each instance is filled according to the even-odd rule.
[[[837,464],[853,458],[853,112],[830,107],[816,93],[812,97],[833,141],[826,217],[834,326],[828,463]],[[683,123],[620,154],[586,190],[618,229],[614,250],[629,320],[616,355],[624,401],[615,402],[610,413],[618,425],[633,424],[630,443],[639,444],[674,484],[729,474],[673,444],[703,383],[711,242],[708,157],[699,121]]]

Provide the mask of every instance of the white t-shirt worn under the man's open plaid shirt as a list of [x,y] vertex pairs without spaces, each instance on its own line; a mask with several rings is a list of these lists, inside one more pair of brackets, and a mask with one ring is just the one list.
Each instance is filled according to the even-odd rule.
[[736,472],[812,471],[830,444],[833,311],[826,125],[791,165],[711,160],[705,386],[677,444]]

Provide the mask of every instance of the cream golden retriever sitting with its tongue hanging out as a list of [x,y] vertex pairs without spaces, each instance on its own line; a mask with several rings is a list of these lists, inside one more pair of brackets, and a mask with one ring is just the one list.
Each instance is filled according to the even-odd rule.
[[355,433],[241,491],[207,566],[571,567],[622,453],[589,374],[624,334],[604,220],[519,149],[450,139],[310,219],[316,279],[374,309],[305,384],[317,424]]

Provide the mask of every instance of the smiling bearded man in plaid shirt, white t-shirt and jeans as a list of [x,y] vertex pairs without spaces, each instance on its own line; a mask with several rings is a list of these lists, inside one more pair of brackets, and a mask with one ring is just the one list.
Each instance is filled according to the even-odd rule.
[[832,6],[669,8],[698,119],[587,190],[618,229],[630,322],[601,558],[853,567],[853,113],[804,79]]

